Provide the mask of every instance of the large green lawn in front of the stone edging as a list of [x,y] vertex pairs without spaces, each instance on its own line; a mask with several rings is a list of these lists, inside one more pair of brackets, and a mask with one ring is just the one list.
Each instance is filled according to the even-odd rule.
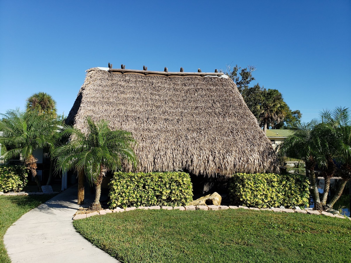
[[350,262],[351,221],[298,213],[133,210],[73,222],[122,262]]

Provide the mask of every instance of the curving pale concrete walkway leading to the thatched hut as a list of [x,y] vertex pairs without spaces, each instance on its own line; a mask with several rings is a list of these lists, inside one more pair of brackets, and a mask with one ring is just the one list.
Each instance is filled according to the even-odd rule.
[[[85,188],[85,207],[93,196]],[[4,243],[13,263],[119,262],[73,228],[77,185],[24,214],[7,230]]]

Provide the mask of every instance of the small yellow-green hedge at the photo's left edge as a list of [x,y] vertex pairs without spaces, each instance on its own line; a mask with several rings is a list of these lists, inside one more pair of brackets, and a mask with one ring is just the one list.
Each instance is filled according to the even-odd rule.
[[19,192],[28,183],[28,170],[22,165],[1,165],[0,166],[0,191]]

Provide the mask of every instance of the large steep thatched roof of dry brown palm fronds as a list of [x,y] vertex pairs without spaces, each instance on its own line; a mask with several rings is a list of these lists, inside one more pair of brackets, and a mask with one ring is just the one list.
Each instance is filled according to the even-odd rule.
[[133,133],[138,171],[185,169],[208,176],[277,171],[271,142],[231,79],[92,68],[66,123],[86,131],[86,116]]

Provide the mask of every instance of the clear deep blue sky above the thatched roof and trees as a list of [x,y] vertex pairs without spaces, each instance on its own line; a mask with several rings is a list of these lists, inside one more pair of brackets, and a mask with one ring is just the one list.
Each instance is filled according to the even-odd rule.
[[108,62],[254,65],[254,82],[278,89],[307,122],[351,108],[351,1],[0,0],[0,113],[42,91],[67,115],[85,70]]

